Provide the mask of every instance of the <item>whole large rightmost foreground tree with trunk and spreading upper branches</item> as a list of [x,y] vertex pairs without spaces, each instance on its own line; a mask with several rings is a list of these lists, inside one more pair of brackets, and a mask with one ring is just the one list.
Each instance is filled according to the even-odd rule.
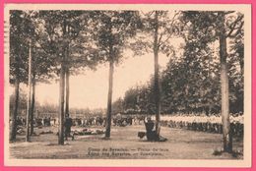
[[[221,65],[221,96],[222,96],[222,119],[224,127],[224,151],[232,151],[232,135],[229,121],[229,85],[227,68],[227,38],[233,38],[243,28],[243,15],[236,12],[185,12],[189,23],[197,26],[195,32],[200,34],[201,30],[214,33],[212,38],[219,40],[219,55]],[[214,41],[214,39],[213,39]]]

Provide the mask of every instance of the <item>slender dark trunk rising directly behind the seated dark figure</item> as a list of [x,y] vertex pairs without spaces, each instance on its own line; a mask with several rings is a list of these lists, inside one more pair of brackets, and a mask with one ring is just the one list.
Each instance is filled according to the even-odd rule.
[[155,103],[156,103],[156,131],[160,136],[160,69],[159,69],[159,12],[155,14],[154,59],[155,59]]

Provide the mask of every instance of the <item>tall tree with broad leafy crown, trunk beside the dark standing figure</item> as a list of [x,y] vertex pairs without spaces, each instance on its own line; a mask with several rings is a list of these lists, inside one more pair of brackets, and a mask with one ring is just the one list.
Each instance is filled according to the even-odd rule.
[[[64,116],[69,113],[70,70],[93,68],[97,63],[96,49],[90,47],[94,12],[83,11],[41,11],[43,25],[42,48],[55,57],[56,72],[59,75],[59,144],[64,144]],[[66,78],[66,79],[65,79]],[[65,81],[66,80],[66,81]],[[66,87],[66,111],[65,111]]]

